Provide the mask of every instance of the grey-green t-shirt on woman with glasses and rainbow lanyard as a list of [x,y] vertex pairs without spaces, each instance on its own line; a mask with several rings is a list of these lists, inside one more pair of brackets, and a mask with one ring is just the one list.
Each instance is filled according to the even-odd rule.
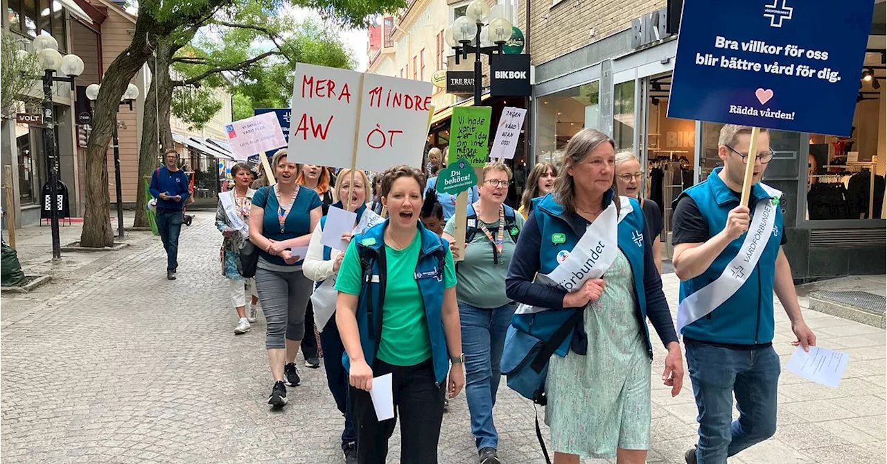
[[[453,235],[456,228],[455,218],[456,216],[452,216],[446,222],[443,232]],[[523,216],[514,215],[514,224],[518,229],[523,229],[525,222]],[[483,224],[495,239],[498,236],[498,220],[491,224]],[[491,241],[478,226],[475,238],[465,249],[465,260],[459,263],[459,270],[456,273],[456,277],[459,278],[459,287],[456,287],[459,303],[489,310],[511,303],[511,299],[505,295],[505,278],[508,273],[508,263],[511,263],[516,247],[517,244],[511,239],[511,234],[506,231],[502,236],[502,256],[499,257],[498,264],[493,263]]]

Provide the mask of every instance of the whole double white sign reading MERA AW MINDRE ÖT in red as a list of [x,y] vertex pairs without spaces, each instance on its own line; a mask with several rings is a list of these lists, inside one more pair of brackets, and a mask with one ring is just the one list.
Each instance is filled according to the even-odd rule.
[[289,153],[299,162],[336,168],[419,167],[431,91],[431,83],[300,63]]

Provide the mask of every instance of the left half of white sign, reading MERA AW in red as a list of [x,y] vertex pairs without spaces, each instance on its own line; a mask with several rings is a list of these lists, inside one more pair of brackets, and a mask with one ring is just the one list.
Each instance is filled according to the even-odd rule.
[[347,168],[354,153],[361,73],[295,67],[288,153],[293,161]]

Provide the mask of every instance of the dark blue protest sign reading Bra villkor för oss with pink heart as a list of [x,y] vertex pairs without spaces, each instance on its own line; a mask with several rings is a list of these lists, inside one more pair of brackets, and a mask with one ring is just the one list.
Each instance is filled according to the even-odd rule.
[[668,117],[849,136],[872,0],[685,0]]

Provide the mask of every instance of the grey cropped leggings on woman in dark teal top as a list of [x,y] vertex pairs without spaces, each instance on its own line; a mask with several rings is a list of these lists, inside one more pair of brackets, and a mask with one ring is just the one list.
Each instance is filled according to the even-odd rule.
[[286,340],[305,336],[305,308],[311,297],[310,281],[302,271],[255,270],[255,288],[268,324],[265,349],[286,348]]

